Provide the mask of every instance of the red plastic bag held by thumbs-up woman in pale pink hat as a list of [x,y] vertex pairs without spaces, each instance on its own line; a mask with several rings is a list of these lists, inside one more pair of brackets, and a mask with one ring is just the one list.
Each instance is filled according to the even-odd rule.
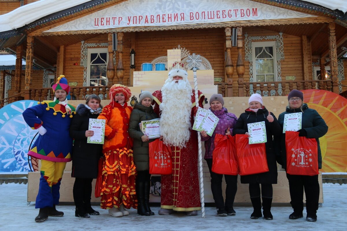
[[241,176],[269,171],[265,143],[248,144],[248,136],[240,134],[235,142]]

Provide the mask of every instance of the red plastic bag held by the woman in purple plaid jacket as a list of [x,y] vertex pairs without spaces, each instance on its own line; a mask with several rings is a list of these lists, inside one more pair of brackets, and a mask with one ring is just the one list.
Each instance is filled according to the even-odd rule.
[[239,173],[234,136],[215,135],[212,154],[212,171],[217,174],[234,176]]

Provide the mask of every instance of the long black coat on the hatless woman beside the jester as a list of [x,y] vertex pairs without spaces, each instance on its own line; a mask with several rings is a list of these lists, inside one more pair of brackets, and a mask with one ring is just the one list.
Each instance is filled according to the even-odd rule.
[[79,104],[70,125],[70,136],[75,139],[72,151],[71,177],[94,178],[98,176],[98,161],[102,156],[102,144],[87,143],[85,132],[89,119],[98,118],[91,114],[84,104]]

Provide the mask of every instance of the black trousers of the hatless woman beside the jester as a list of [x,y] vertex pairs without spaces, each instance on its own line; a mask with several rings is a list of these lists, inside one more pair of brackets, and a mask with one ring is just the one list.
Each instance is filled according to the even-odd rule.
[[92,181],[92,178],[75,178],[73,194],[76,207],[90,205],[92,196]]

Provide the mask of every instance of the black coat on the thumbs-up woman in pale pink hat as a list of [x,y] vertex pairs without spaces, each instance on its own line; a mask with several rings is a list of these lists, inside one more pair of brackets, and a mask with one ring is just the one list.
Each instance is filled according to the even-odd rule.
[[255,113],[249,108],[245,110],[244,113],[238,118],[236,125],[234,126],[233,134],[245,134],[248,132],[247,124],[265,121],[266,128],[266,139],[265,143],[266,148],[266,159],[268,161],[268,172],[263,172],[260,174],[253,174],[247,176],[241,176],[241,183],[260,183],[260,184],[277,184],[277,162],[276,162],[276,153],[273,149],[273,140],[272,136],[281,135],[281,127],[273,115],[274,121],[270,123],[266,117],[269,115],[269,111],[263,106]]

